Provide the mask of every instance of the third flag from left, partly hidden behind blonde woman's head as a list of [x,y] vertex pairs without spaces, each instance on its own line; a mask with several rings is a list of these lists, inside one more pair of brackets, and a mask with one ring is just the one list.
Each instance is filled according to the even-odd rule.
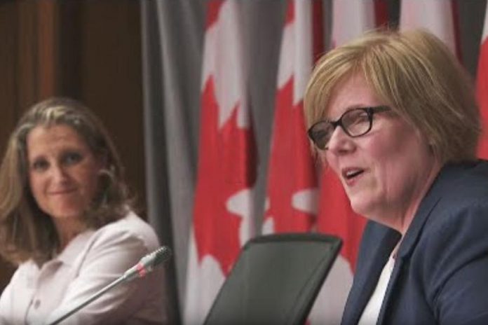
[[[387,21],[384,1],[334,0],[332,6],[332,46],[341,46]],[[343,245],[316,300],[314,311],[320,307],[327,308],[329,312],[322,316],[327,317],[325,324],[339,324],[353,282],[355,260],[366,221],[353,212],[341,182],[330,169],[321,173],[319,202],[317,230],[338,235]],[[321,320],[324,319],[316,321],[311,318],[312,322],[324,324],[320,323]]]

